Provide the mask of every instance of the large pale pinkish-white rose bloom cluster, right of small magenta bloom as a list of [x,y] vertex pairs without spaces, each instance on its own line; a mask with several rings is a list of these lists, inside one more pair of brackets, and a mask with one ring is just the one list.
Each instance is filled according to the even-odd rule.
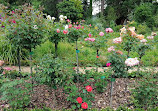
[[135,66],[135,65],[138,65],[139,64],[139,60],[135,57],[135,58],[128,58],[125,60],[125,64],[127,66]]

